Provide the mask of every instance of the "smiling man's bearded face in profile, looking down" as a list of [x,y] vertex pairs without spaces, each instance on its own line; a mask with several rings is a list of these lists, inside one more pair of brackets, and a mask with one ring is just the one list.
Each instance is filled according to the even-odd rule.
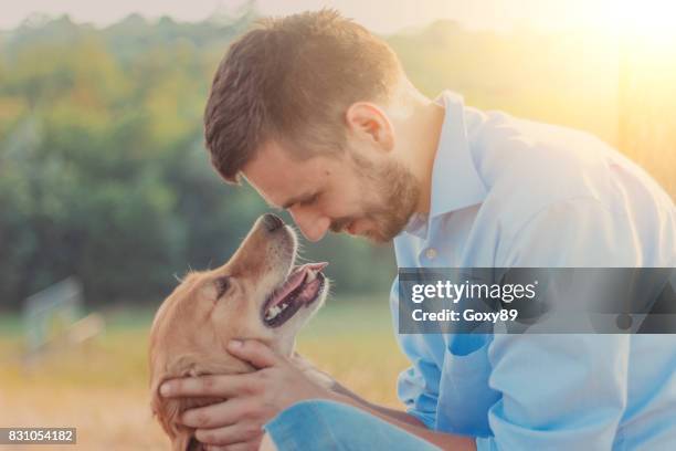
[[267,203],[288,210],[310,241],[328,230],[390,241],[419,200],[415,177],[389,154],[345,150],[300,160],[270,141],[242,172]]

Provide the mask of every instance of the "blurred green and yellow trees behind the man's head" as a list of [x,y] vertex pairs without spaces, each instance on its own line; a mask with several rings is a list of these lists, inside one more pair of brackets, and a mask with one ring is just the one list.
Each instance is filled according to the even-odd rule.
[[[252,18],[131,15],[104,30],[61,18],[3,36],[0,307],[72,274],[93,305],[157,301],[175,275],[232,254],[266,207],[211,168],[201,115],[218,60]],[[332,239],[311,256],[331,260],[341,291],[393,275],[378,264],[389,249]]]

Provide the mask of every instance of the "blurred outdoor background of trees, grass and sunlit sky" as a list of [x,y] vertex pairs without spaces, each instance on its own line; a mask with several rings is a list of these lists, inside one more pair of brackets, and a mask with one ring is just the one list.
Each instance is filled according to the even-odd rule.
[[[152,315],[177,276],[222,264],[266,211],[209,165],[213,71],[256,18],[321,7],[382,35],[426,95],[589,130],[676,197],[668,1],[4,3],[0,427],[77,427],[85,449],[166,447],[147,395]],[[391,249],[331,235],[304,255],[331,262],[335,289],[300,350],[397,406]]]

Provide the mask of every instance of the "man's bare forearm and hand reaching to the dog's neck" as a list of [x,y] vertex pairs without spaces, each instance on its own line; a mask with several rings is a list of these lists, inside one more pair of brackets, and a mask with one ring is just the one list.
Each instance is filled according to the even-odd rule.
[[[349,397],[318,384],[285,357],[253,339],[231,343],[228,350],[237,358],[260,368],[240,375],[209,375],[173,379],[165,382],[165,397],[215,397],[225,399],[183,412],[180,421],[196,428],[196,438],[211,445],[245,443],[257,448],[263,438],[263,424],[282,410],[308,399],[344,402],[399,427],[423,440],[447,450],[475,450],[474,439],[441,433],[425,428],[404,412],[370,405],[352,394]],[[406,418],[409,417],[409,418]]]

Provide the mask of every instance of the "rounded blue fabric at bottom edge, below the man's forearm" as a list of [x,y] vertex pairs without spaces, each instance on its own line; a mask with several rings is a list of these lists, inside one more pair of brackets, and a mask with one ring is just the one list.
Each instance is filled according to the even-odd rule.
[[265,430],[279,451],[439,451],[439,448],[355,407],[325,400],[298,402]]

